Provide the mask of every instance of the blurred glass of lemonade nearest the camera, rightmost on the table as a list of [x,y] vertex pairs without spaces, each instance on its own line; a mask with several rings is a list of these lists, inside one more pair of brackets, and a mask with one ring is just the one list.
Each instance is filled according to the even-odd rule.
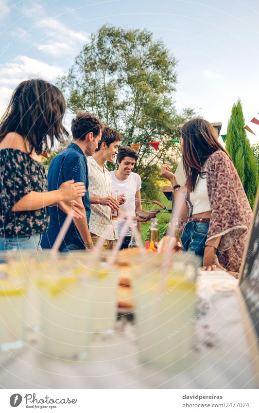
[[139,360],[156,369],[184,371],[191,363],[198,260],[177,253],[168,269],[162,261],[150,264],[141,275],[133,273]]

